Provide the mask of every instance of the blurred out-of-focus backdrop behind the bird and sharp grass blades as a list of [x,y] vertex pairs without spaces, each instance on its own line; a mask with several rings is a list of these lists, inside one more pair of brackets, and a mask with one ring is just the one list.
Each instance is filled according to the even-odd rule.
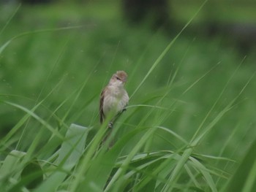
[[[97,131],[99,93],[111,75],[117,70],[126,71],[129,75],[127,91],[132,95],[154,61],[203,1],[142,1],[142,7],[133,1],[129,3],[121,0],[40,3],[23,0],[21,4],[20,1],[1,1],[0,46],[21,35],[0,55],[1,100],[31,109],[45,99],[36,113],[53,126],[58,125],[51,118],[53,112],[63,118],[70,110],[65,123],[94,126]],[[170,93],[160,103],[162,107],[176,103],[162,126],[191,139],[222,90],[225,92],[208,122],[238,96],[255,72],[255,8],[256,2],[250,0],[206,2],[132,96],[130,105],[159,104],[159,97],[169,89],[167,83],[177,72]],[[50,30],[43,31],[46,29]],[[24,34],[27,32],[29,34]],[[184,93],[204,74],[202,80]],[[83,85],[83,91],[73,104]],[[255,88],[254,78],[225,118],[197,146],[198,152],[223,153],[223,156],[241,160],[256,135]],[[148,112],[147,107],[138,108],[131,107],[127,112],[130,115],[127,124],[131,129]],[[143,126],[154,124],[157,114],[152,114]],[[1,104],[0,137],[4,137],[23,115],[24,112]],[[29,146],[39,123],[31,120],[28,124],[20,150]],[[120,134],[125,131],[121,130]],[[165,143],[165,139],[170,138],[159,135],[154,138],[151,150],[171,150]],[[13,145],[19,137],[14,137]],[[133,142],[136,139],[140,138],[134,138]],[[171,142],[173,147],[179,147],[175,139]],[[222,151],[223,145],[227,145],[225,151]]]

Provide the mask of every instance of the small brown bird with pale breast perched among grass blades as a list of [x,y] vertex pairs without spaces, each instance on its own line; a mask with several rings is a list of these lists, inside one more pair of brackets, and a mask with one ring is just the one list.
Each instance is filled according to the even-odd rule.
[[100,94],[100,123],[103,123],[108,115],[111,115],[111,117],[108,117],[110,119],[110,123],[108,124],[109,128],[113,127],[113,121],[125,110],[125,107],[128,104],[129,96],[124,89],[125,82],[127,82],[127,73],[118,71],[113,74],[108,85]]

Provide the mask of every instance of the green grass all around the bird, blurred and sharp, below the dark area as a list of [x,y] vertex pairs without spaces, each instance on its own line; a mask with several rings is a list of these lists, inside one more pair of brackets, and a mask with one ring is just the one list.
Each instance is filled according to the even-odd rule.
[[[255,191],[255,50],[128,26],[118,6],[1,7],[0,191]],[[117,70],[129,107],[98,149]]]

